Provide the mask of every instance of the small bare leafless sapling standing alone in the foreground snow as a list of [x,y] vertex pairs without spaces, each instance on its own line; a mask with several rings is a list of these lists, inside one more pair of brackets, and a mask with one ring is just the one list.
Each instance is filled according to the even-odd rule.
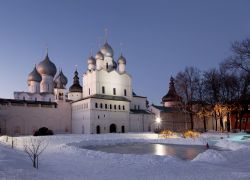
[[32,161],[33,167],[38,169],[38,158],[42,152],[47,148],[48,143],[40,138],[30,138],[24,142],[24,151],[28,154]]

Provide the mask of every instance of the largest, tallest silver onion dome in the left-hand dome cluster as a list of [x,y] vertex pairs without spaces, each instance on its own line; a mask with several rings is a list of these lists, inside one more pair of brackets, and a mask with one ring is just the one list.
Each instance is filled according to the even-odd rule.
[[48,54],[45,59],[41,61],[37,66],[37,71],[39,74],[45,74],[54,77],[56,74],[56,66],[50,61]]

